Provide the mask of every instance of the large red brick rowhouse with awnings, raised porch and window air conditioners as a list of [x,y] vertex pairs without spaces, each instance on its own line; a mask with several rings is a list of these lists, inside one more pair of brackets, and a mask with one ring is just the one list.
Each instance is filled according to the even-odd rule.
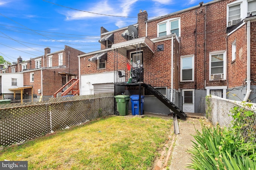
[[[256,0],[214,0],[152,20],[140,11],[132,26],[138,31],[135,39],[127,34],[129,27],[102,27],[102,50],[79,56],[80,94],[113,90],[122,81],[117,71],[129,77],[127,62],[141,54],[137,59],[144,81],[148,72],[162,80],[172,102],[182,96],[178,107],[185,112],[204,112],[208,94],[231,100],[248,96],[255,102],[255,14]],[[132,66],[138,66],[134,60]],[[125,89],[126,94],[136,93]],[[169,112],[144,88],[142,94],[145,111]]]

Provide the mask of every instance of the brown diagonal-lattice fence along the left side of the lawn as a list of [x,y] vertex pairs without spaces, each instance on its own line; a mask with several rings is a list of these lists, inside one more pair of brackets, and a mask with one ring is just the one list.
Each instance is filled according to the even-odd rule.
[[55,98],[43,104],[1,108],[0,146],[22,143],[113,113],[114,93]]

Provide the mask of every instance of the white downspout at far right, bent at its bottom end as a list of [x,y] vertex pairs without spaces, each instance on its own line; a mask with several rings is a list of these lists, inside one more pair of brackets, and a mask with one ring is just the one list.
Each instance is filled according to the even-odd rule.
[[251,56],[250,56],[250,51],[251,51],[251,38],[250,38],[250,26],[251,26],[251,21],[247,21],[247,92],[244,96],[243,102],[247,102],[250,93],[251,93]]

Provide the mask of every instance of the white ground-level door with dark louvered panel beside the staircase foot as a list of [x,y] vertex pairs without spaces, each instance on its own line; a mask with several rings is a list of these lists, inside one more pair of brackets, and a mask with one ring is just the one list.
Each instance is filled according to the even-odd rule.
[[194,106],[194,90],[182,90],[183,92],[183,108],[184,112],[195,112]]

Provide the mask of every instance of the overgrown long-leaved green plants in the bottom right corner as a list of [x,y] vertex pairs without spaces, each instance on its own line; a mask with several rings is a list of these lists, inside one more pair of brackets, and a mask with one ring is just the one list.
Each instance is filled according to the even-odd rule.
[[188,151],[192,154],[193,163],[188,168],[256,170],[256,114],[239,106],[230,112],[234,120],[229,129],[217,124],[213,128],[202,125],[202,133],[196,130],[196,142],[193,142],[193,148]]

